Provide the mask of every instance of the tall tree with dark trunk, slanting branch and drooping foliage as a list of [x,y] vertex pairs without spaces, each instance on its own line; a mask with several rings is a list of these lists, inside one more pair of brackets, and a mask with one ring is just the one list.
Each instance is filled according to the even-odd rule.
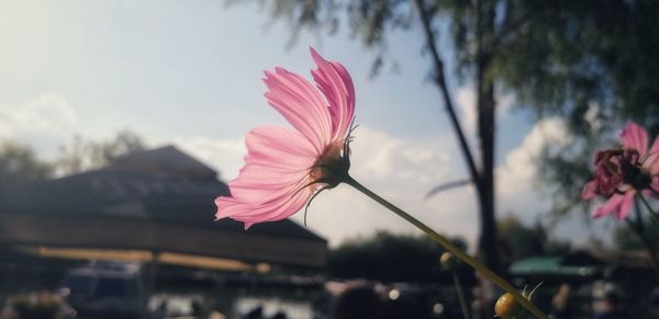
[[[554,191],[555,212],[573,212],[590,155],[611,128],[634,119],[659,132],[659,2],[654,0],[277,0],[276,18],[330,34],[347,22],[356,38],[386,64],[387,38],[420,22],[431,55],[429,71],[476,186],[481,218],[480,250],[500,271],[494,223],[496,98],[511,93],[538,118],[562,116],[573,136],[566,148],[547,148],[543,180]],[[457,121],[437,49],[442,21],[450,21],[457,73],[477,89],[479,152]],[[293,37],[294,38],[294,37]],[[473,155],[478,155],[480,161]],[[463,185],[448,183],[447,185]],[[443,189],[443,187],[439,187]],[[446,187],[444,187],[446,189]]]

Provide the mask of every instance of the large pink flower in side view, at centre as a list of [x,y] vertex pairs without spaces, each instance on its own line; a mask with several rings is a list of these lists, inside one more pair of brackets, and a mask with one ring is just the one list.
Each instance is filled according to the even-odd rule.
[[[276,68],[266,71],[265,96],[294,127],[260,126],[245,137],[247,156],[238,176],[228,182],[231,196],[220,196],[216,219],[255,223],[284,219],[314,193],[334,187],[349,168],[349,130],[355,88],[347,70],[313,48],[316,87],[303,77]],[[317,88],[317,89],[316,89]]]

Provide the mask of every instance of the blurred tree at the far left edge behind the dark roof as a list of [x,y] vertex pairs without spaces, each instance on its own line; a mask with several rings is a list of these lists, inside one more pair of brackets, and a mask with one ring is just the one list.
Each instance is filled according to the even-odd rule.
[[36,158],[34,150],[12,141],[0,145],[0,191],[51,176],[53,167]]

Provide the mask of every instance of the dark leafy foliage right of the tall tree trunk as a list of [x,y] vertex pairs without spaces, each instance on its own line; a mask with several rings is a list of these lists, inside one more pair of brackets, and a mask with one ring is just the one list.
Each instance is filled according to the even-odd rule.
[[538,118],[565,118],[573,141],[538,161],[552,210],[565,215],[580,207],[592,155],[615,145],[616,128],[634,121],[659,133],[659,2],[514,3],[514,15],[526,19],[501,41],[493,69]]

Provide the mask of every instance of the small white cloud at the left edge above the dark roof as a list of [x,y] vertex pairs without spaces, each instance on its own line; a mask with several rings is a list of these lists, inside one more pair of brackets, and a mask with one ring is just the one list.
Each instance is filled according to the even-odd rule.
[[70,134],[76,110],[59,94],[48,94],[21,105],[0,106],[0,138]]

